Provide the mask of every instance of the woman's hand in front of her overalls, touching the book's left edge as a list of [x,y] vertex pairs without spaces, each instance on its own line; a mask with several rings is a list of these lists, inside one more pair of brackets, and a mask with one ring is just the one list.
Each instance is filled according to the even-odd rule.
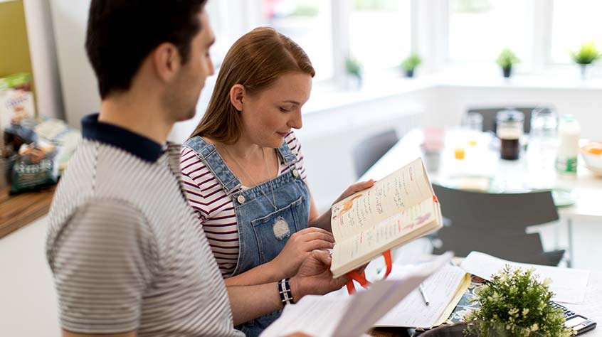
[[332,247],[334,247],[334,237],[331,232],[322,228],[305,228],[290,236],[282,252],[270,264],[284,272],[284,277],[292,277],[297,274],[300,265],[312,250]]

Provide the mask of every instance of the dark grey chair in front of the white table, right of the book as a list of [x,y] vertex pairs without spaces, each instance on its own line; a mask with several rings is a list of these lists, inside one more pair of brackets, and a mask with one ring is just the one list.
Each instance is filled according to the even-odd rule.
[[472,250],[530,264],[558,265],[564,250],[544,252],[539,233],[527,226],[558,220],[549,191],[480,193],[433,184],[446,226],[438,231],[442,245],[434,254],[453,250],[465,257]]

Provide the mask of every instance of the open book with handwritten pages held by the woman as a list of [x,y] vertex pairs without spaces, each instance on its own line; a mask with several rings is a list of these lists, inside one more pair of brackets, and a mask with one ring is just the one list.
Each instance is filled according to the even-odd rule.
[[334,277],[443,226],[421,159],[332,205]]

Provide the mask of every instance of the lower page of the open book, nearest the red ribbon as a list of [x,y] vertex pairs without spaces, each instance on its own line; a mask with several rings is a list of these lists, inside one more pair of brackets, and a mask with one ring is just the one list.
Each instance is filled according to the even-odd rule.
[[334,277],[369,262],[374,255],[438,228],[438,204],[432,198],[406,208],[379,225],[365,228],[347,240],[337,241],[332,249],[330,270]]

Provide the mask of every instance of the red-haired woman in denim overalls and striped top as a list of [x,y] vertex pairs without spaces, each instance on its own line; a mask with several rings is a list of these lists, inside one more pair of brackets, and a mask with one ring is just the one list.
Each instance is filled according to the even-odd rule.
[[[305,52],[256,28],[223,60],[208,109],[181,152],[186,196],[228,285],[292,277],[312,251],[332,248],[303,166],[301,107],[315,71]],[[342,198],[372,186],[350,186]],[[255,336],[280,312],[239,326]]]

